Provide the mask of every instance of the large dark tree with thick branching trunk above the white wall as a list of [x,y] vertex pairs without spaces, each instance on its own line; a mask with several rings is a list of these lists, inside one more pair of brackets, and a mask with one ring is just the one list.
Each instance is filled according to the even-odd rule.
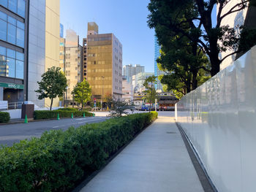
[[[252,2],[253,1],[253,2]],[[251,4],[255,4],[252,0]],[[240,46],[241,37],[244,37],[243,26],[230,28],[221,26],[222,20],[228,15],[241,11],[248,7],[249,0],[239,0],[238,3],[230,6],[230,0],[151,0],[148,4],[148,26],[155,28],[159,44],[165,43],[166,38],[182,36],[195,42],[211,61],[211,76],[219,72],[219,65],[230,55],[244,51]],[[214,6],[217,5],[217,24],[213,26],[211,15]],[[227,12],[224,7],[230,6]],[[246,33],[245,33],[246,34]],[[246,39],[246,38],[244,38]],[[255,37],[246,39],[243,45],[256,44]],[[219,58],[219,53],[226,50],[233,50],[224,58]]]

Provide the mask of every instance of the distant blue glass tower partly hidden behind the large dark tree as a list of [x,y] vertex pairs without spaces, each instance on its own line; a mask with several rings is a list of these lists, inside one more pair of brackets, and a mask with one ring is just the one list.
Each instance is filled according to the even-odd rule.
[[[160,56],[160,49],[161,47],[159,46],[157,42],[157,37],[154,37],[154,76],[159,77],[161,74],[164,74],[161,70],[158,69],[157,66],[157,58]],[[157,83],[155,85],[155,88],[157,91],[162,91],[162,83],[157,79]]]

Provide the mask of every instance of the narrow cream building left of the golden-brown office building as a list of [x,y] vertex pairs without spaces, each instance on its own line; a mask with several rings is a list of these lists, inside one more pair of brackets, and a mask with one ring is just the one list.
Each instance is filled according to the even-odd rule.
[[81,82],[83,47],[79,45],[79,36],[72,29],[66,31],[65,39],[65,75],[67,77],[67,95],[65,99],[72,101],[72,91]]

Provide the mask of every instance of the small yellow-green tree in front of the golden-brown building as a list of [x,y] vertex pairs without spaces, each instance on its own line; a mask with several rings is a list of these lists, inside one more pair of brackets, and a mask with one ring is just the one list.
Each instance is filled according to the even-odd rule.
[[75,101],[82,104],[82,110],[84,104],[91,100],[91,87],[89,82],[84,79],[82,82],[78,82],[72,91]]

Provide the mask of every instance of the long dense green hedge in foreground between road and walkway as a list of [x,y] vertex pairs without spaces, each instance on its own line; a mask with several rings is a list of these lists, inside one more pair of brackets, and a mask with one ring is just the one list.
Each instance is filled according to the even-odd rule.
[[157,118],[157,112],[45,132],[0,149],[0,191],[68,191]]

